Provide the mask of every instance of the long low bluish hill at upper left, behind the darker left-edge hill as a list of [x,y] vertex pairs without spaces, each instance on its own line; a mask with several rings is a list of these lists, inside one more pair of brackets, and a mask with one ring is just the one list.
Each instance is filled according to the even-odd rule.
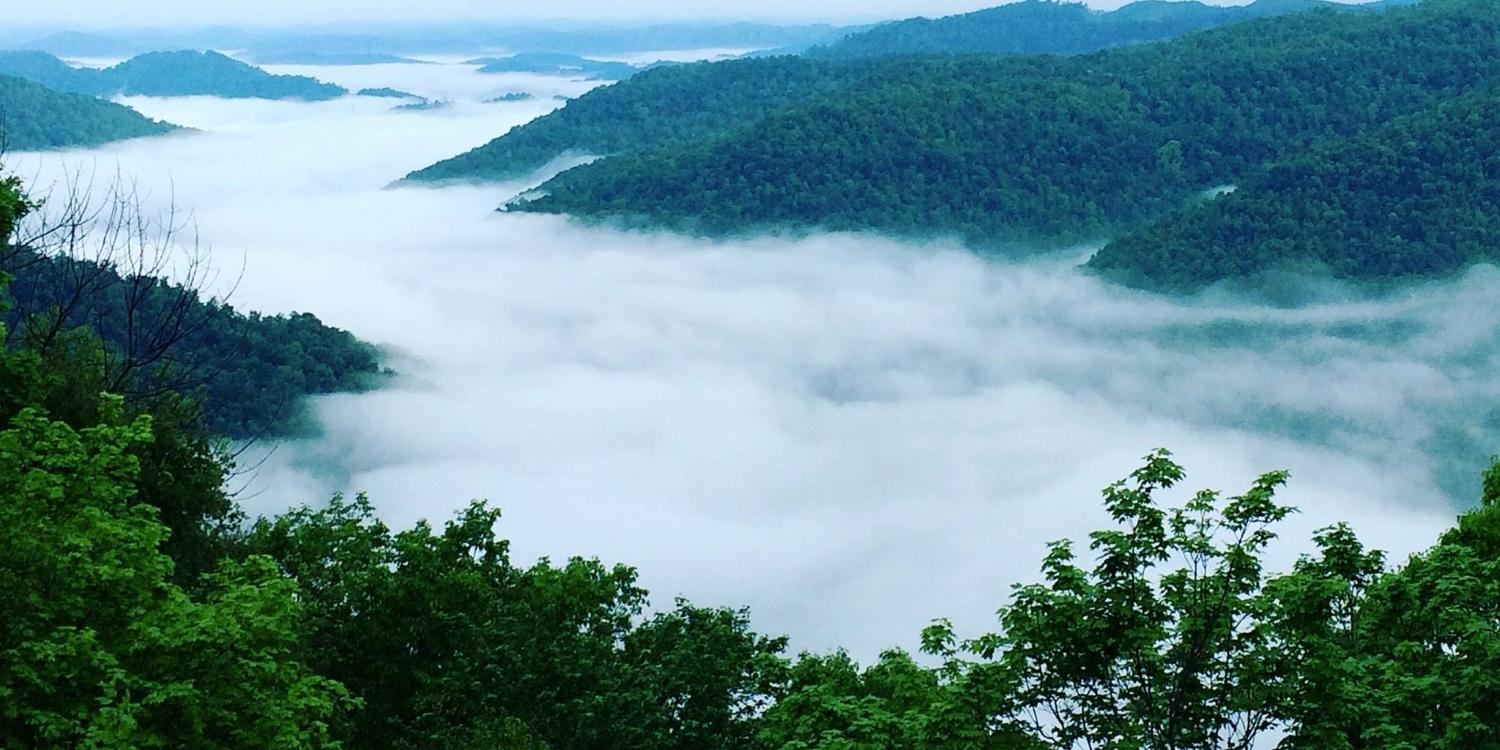
[[272,75],[219,52],[147,52],[105,69],[72,68],[46,52],[0,52],[0,75],[88,96],[336,99],[348,92],[302,75]]

